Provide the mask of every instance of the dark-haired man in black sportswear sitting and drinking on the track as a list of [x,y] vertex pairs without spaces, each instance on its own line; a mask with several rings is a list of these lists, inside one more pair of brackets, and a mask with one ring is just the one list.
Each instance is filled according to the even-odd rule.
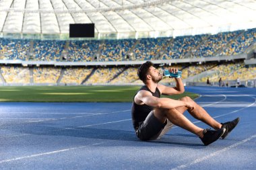
[[[171,68],[169,71],[176,73],[177,69]],[[160,138],[170,130],[172,124],[175,124],[199,136],[206,146],[218,138],[226,138],[228,133],[238,124],[239,118],[232,122],[220,124],[190,97],[182,97],[179,100],[160,98],[161,94],[181,94],[185,91],[184,86],[181,78],[174,78],[176,87],[158,84],[162,75],[150,61],[141,65],[137,74],[145,85],[139,89],[133,98],[131,114],[136,135],[141,140]],[[186,110],[194,118],[201,120],[215,130],[203,130],[195,126],[183,115]]]

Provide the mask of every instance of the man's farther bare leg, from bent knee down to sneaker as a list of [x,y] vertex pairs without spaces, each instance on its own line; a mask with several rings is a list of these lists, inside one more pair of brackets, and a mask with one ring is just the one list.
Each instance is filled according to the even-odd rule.
[[[181,101],[193,101],[190,97],[182,97]],[[193,101],[195,103],[195,101]],[[184,113],[187,108],[186,107],[179,107],[176,108],[179,112]],[[197,120],[201,120],[205,124],[211,126],[214,129],[220,129],[222,124],[214,120],[200,105],[195,103],[195,108],[193,110],[187,110],[189,114],[191,114]]]

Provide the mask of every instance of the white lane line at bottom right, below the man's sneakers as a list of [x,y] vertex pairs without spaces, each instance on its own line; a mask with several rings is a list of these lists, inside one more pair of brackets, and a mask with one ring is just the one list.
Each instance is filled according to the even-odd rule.
[[195,165],[195,164],[197,164],[197,163],[200,163],[201,161],[205,161],[205,160],[210,159],[211,157],[214,157],[214,156],[216,156],[216,155],[218,155],[218,154],[220,154],[220,153],[223,153],[223,152],[225,152],[225,151],[228,151],[228,150],[230,150],[230,149],[232,149],[232,148],[234,148],[234,147],[236,147],[236,146],[239,146],[239,145],[241,145],[241,144],[244,144],[245,142],[248,142],[249,140],[252,140],[253,138],[256,138],[256,134],[254,134],[253,136],[250,136],[249,138],[246,138],[246,139],[244,139],[244,140],[242,140],[242,141],[240,141],[240,142],[236,142],[235,144],[232,144],[232,145],[230,145],[230,146],[227,146],[227,147],[225,147],[225,148],[222,148],[222,149],[219,150],[219,151],[216,151],[216,152],[214,152],[214,153],[211,153],[210,155],[206,155],[205,157],[200,157],[199,159],[195,159],[195,160],[192,161],[191,163],[186,163],[186,164],[184,164],[184,165],[180,165],[180,166],[178,166],[178,167],[174,167],[174,168],[172,168],[172,170],[183,169],[183,168],[187,168],[187,167],[189,167],[189,166],[191,166],[191,165]]

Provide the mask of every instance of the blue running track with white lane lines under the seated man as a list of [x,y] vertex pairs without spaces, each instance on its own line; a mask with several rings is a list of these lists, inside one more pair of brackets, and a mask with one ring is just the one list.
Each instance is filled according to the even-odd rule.
[[209,146],[177,126],[141,142],[131,103],[0,103],[0,169],[255,169],[256,90],[186,90],[199,93],[197,103],[219,122],[241,122]]

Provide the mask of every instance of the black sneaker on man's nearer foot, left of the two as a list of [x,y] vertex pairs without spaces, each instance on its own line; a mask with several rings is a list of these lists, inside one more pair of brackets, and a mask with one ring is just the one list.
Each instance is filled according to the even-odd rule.
[[218,140],[218,138],[220,138],[220,136],[222,136],[225,131],[225,128],[220,128],[219,130],[205,129],[203,130],[203,138],[201,138],[201,140],[203,144],[207,146],[208,144]]

